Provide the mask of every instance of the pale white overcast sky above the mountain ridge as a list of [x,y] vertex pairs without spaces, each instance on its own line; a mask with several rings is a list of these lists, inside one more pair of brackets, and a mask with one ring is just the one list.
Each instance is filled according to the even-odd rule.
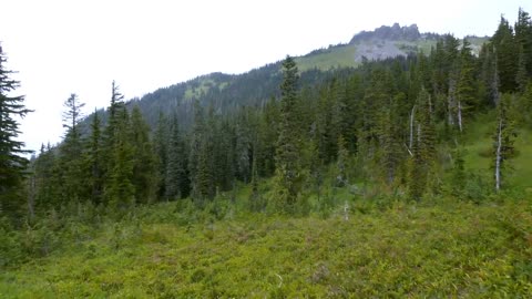
[[[244,73],[289,55],[347,43],[395,22],[421,32],[491,35],[530,0],[0,0],[7,66],[34,110],[21,120],[29,150],[64,134],[63,103],[84,113],[212,72]],[[16,95],[13,94],[13,95]]]

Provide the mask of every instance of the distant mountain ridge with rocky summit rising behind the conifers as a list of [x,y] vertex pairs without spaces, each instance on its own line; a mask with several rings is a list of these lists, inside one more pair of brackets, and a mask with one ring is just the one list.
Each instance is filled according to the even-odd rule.
[[[417,24],[400,27],[395,23],[374,31],[361,31],[355,34],[349,43],[329,45],[327,49],[296,58],[300,85],[315,85],[336,72],[350,72],[364,60],[428,53],[439,38],[441,35],[436,33],[420,33]],[[473,51],[478,53],[488,38],[469,40]],[[280,62],[275,62],[238,75],[202,75],[158,89],[142,99],[130,101],[129,105],[139,105],[152,127],[156,124],[160,112],[176,113],[180,122],[186,126],[192,122],[194,101],[204,106],[212,105],[216,113],[226,113],[237,106],[262,105],[279,94],[280,81]]]

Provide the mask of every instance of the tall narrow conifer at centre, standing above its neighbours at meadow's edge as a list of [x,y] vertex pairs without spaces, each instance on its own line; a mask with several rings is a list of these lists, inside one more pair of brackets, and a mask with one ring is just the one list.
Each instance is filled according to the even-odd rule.
[[297,132],[295,126],[298,123],[296,111],[298,74],[296,62],[290,56],[283,62],[283,75],[274,200],[277,208],[290,212],[300,192],[299,141],[294,134]]

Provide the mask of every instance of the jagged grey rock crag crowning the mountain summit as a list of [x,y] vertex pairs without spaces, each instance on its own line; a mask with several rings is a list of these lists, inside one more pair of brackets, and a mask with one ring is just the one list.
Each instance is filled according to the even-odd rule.
[[421,38],[421,33],[419,33],[417,24],[411,24],[409,27],[400,27],[398,23],[395,23],[392,27],[381,25],[374,31],[361,31],[360,33],[352,37],[349,43],[352,44],[367,40],[416,41],[419,38]]

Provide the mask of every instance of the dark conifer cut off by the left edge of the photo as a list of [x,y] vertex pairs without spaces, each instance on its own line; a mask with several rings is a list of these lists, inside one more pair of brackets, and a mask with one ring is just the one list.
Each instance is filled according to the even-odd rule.
[[24,96],[11,95],[20,83],[10,79],[12,71],[6,70],[7,58],[0,45],[0,217],[17,216],[23,200],[23,179],[29,161],[21,156],[30,153],[24,143],[17,141],[19,123],[30,110],[23,105]]

